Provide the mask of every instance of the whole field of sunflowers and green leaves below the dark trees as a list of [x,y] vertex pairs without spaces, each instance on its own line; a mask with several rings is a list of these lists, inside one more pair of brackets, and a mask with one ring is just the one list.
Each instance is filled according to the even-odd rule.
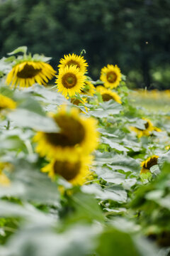
[[170,255],[170,107],[90,68],[84,50],[0,60],[1,256]]

